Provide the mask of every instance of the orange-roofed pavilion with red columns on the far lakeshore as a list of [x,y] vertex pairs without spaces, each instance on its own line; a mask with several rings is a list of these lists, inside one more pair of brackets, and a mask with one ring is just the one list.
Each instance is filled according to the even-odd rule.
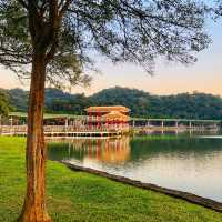
[[89,107],[85,111],[90,129],[129,129],[129,108],[123,105]]

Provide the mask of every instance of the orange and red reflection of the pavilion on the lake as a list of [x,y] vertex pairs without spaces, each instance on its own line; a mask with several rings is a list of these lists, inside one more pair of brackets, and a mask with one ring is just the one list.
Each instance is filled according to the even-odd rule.
[[130,158],[129,137],[108,140],[80,140],[75,142],[73,150],[80,152],[84,161],[122,164]]

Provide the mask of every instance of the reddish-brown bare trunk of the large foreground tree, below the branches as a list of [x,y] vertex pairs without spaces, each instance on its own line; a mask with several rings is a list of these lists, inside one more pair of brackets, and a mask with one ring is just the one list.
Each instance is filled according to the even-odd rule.
[[52,221],[46,209],[47,150],[43,135],[46,63],[44,56],[34,53],[29,95],[27,134],[27,194],[19,222]]

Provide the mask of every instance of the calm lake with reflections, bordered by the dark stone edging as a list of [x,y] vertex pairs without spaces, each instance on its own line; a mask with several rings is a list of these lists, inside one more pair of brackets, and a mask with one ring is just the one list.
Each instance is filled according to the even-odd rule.
[[51,160],[67,160],[142,182],[222,202],[222,138],[142,135],[49,143]]

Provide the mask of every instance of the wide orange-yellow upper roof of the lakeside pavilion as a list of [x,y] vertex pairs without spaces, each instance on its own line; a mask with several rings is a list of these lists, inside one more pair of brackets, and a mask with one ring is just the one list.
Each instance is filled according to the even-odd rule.
[[130,112],[130,109],[123,105],[110,105],[110,107],[89,107],[84,109],[87,112],[112,112],[112,111],[118,111],[118,112]]

